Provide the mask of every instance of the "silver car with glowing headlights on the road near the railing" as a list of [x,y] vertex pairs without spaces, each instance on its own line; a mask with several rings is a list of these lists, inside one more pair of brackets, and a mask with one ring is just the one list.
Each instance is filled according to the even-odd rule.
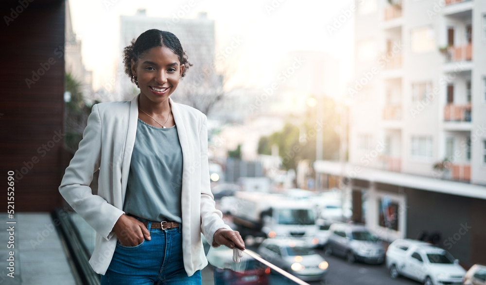
[[258,253],[304,281],[320,281],[328,272],[328,262],[302,240],[267,238]]

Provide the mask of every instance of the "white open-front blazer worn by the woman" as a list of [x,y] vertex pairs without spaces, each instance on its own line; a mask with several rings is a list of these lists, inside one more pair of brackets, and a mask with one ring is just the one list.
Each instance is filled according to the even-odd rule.
[[[103,275],[116,247],[113,226],[124,213],[122,208],[139,117],[138,98],[93,106],[79,149],[59,186],[64,199],[96,231],[89,264]],[[184,268],[191,276],[208,264],[201,233],[212,245],[216,230],[230,228],[214,207],[209,187],[207,118],[192,107],[169,101],[183,155],[182,251]],[[89,185],[98,168],[98,193],[93,195]]]

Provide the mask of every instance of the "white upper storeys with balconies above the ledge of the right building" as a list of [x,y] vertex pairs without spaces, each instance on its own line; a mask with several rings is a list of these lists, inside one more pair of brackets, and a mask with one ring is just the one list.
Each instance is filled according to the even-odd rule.
[[358,8],[349,162],[486,184],[486,2]]

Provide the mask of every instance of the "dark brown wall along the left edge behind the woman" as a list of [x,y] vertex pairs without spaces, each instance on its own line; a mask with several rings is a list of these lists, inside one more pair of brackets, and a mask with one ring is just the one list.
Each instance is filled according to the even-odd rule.
[[[0,179],[6,184],[7,172],[16,172],[15,211],[51,211],[62,205],[57,188],[66,166],[64,52],[59,49],[64,46],[65,3],[20,2],[0,2]],[[7,19],[8,26],[4,16],[13,20]],[[28,86],[26,79],[33,80],[39,71],[42,75]],[[1,192],[5,201],[6,191]]]

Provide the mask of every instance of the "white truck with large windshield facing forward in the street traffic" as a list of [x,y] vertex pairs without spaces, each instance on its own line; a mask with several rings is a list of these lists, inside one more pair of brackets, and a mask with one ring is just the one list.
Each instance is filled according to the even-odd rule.
[[298,238],[316,246],[315,208],[278,193],[237,192],[233,223],[243,238]]

